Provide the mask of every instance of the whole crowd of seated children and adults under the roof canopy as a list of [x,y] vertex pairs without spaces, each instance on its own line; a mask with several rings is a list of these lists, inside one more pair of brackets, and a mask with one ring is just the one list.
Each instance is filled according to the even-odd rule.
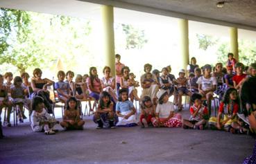
[[[76,75],[75,81],[73,71],[59,71],[58,82],[42,78],[40,69],[33,71],[31,82],[28,73],[16,76],[13,82],[12,73],[0,75],[0,116],[2,109],[7,113],[3,124],[12,126],[10,113],[12,107],[16,107],[19,122],[27,118],[24,109],[28,109],[33,131],[55,134],[53,127],[58,123],[64,129],[83,129],[85,121],[81,117],[80,100],[93,100],[94,104],[89,104],[89,109],[93,111],[96,107],[93,117],[96,129],[140,124],[142,127],[210,127],[232,134],[255,133],[256,63],[244,66],[234,59],[232,53],[228,53],[224,66],[217,63],[213,68],[210,64],[200,67],[196,64],[196,58],[192,57],[187,70],[180,69],[178,78],[171,74],[171,66],[151,72],[152,65],[145,64],[145,73],[138,82],[134,73],[130,73],[129,67],[122,64],[120,59],[121,56],[117,54],[116,77],[111,76],[109,66],[104,67],[103,78],[98,77],[96,67],[92,66],[89,75]],[[61,122],[50,115],[54,105],[48,86],[53,86],[58,99],[65,103]],[[142,87],[142,95],[138,95],[138,86]],[[178,111],[183,109],[182,95],[188,95],[191,100],[189,119],[182,118],[175,110],[175,106]],[[173,102],[169,101],[171,96],[174,97]],[[214,98],[219,99],[217,117],[211,114]],[[139,120],[134,101],[140,104]],[[3,137],[1,127],[0,137]]]

